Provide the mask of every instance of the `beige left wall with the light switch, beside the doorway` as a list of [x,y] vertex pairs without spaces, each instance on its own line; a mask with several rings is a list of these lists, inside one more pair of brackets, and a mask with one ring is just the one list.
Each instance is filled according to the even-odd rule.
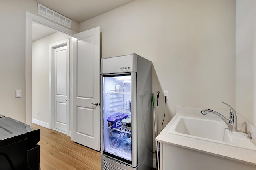
[[[26,122],[26,11],[37,14],[37,2],[0,0],[0,11],[0,114]],[[78,23],[72,21],[72,30]]]

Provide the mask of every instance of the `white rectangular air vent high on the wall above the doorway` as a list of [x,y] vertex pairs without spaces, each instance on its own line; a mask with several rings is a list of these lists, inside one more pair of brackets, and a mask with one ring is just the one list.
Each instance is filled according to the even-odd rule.
[[41,16],[44,16],[45,18],[71,28],[72,20],[39,3],[37,4],[37,13]]

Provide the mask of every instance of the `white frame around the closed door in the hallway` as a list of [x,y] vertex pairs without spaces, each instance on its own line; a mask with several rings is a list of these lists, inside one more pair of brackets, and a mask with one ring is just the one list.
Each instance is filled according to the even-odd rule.
[[[70,98],[70,95],[69,95],[69,92],[70,92],[70,89],[69,89],[69,82],[70,82],[70,79],[69,79],[69,74],[70,74],[70,69],[69,69],[69,60],[70,60],[70,50],[69,50],[69,46],[70,46],[70,43],[69,43],[69,39],[66,39],[66,40],[63,40],[63,41],[60,41],[60,42],[56,42],[56,43],[52,43],[49,45],[49,62],[50,62],[50,67],[49,67],[49,73],[50,73],[50,77],[49,77],[49,84],[50,84],[50,91],[49,91],[49,96],[50,96],[50,100],[49,100],[49,104],[50,104],[50,123],[49,123],[49,128],[52,129],[54,128],[54,105],[55,105],[55,101],[54,101],[54,49],[56,48],[59,48],[59,47],[63,47],[63,46],[67,46],[67,53],[68,53],[68,84],[67,84],[67,89],[68,89],[68,108],[67,108],[67,112],[68,112],[68,129],[67,129],[67,135],[69,136],[69,123],[70,123],[70,115],[69,115],[69,107],[70,107],[70,102],[69,100],[71,99]],[[72,75],[71,75],[72,76]],[[56,131],[60,131],[58,129],[54,129]],[[62,132],[63,133],[63,132]]]

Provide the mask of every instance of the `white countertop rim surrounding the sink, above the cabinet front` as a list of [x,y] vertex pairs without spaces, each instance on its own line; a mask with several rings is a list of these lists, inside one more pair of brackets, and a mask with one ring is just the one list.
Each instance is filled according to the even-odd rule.
[[168,130],[179,115],[186,116],[177,113],[156,137],[156,141],[256,166],[256,151],[254,150],[168,133]]

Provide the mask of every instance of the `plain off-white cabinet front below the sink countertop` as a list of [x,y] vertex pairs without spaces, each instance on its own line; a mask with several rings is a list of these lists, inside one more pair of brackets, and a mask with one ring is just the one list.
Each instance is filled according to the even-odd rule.
[[200,150],[160,143],[160,170],[255,170],[256,166]]

